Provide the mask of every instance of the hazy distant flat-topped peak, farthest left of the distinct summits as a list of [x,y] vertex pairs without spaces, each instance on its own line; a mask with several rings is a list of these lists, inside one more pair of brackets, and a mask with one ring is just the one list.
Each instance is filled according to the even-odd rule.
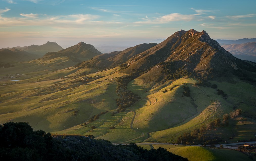
[[26,52],[32,53],[32,54],[37,54],[39,56],[43,56],[44,54],[46,54],[48,52],[55,52],[55,51],[59,51],[62,49],[63,48],[60,45],[58,45],[56,42],[48,41],[47,43],[45,43],[43,45],[30,45],[23,50]]

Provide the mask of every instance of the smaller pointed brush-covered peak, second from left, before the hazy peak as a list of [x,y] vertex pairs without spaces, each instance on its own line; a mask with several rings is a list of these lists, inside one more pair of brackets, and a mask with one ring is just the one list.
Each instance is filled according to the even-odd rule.
[[72,56],[80,60],[89,60],[96,55],[102,54],[97,49],[93,47],[93,45],[86,44],[84,42],[79,42],[78,44],[69,47],[67,49],[60,50],[58,52],[49,52],[45,54],[42,59],[54,59],[57,57],[63,56]]

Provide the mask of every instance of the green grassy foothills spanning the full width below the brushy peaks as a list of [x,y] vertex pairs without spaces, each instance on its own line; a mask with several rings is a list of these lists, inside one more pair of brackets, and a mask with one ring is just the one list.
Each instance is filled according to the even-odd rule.
[[[15,67],[17,69],[18,65]],[[28,64],[27,67],[31,66]],[[8,85],[0,86],[0,121],[27,121],[35,129],[58,133],[90,133],[113,142],[130,141],[137,137],[139,138],[133,140],[134,142],[142,142],[145,139],[175,141],[183,132],[190,132],[201,124],[217,117],[221,118],[224,113],[229,113],[236,107],[246,111],[243,116],[231,120],[227,127],[217,128],[208,133],[221,136],[225,140],[235,135],[234,140],[230,142],[249,139],[255,135],[255,88],[238,79],[227,82],[211,81],[211,84],[217,84],[218,88],[227,94],[228,98],[225,100],[221,95],[217,95],[216,89],[194,86],[196,81],[190,78],[155,84],[151,90],[143,85],[145,78],[138,78],[128,84],[128,89],[140,95],[141,99],[125,112],[110,116],[116,109],[115,79],[126,75],[119,73],[119,70],[117,67],[89,74],[86,77],[105,77],[83,85],[80,82],[70,82],[81,79],[82,76],[77,76],[78,74],[95,72],[95,69],[69,67],[58,71],[35,71],[24,68],[24,72],[27,73],[19,78],[21,81],[14,83],[9,79],[1,80],[1,84],[7,82]],[[16,72],[11,68],[5,68],[1,76],[8,73]],[[62,76],[71,77],[56,79]],[[37,79],[42,81],[36,82]],[[11,83],[13,84],[10,85]],[[181,97],[184,91],[183,83],[189,86],[191,97]],[[170,90],[171,88],[173,90]],[[164,90],[167,92],[163,93]],[[74,115],[76,110],[79,112]],[[83,122],[88,122],[91,116],[105,110],[110,112],[87,127],[80,126]],[[135,112],[134,122],[134,112],[130,111]],[[134,130],[131,129],[131,123]],[[90,131],[92,125],[95,125],[96,129]],[[110,126],[115,126],[116,129],[111,130]],[[147,132],[151,132],[149,139]]]

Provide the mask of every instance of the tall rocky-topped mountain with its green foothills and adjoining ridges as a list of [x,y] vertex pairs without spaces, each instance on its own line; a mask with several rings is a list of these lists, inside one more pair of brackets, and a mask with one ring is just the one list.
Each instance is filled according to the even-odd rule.
[[[193,29],[109,54],[80,42],[1,71],[0,123],[114,143],[249,140],[255,65]],[[6,78],[17,71],[25,74],[18,82]]]

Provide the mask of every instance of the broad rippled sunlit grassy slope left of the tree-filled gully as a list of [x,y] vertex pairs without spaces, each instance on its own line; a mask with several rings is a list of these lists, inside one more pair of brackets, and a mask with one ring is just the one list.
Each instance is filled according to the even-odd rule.
[[[111,71],[101,72],[108,73]],[[109,77],[118,76],[113,73]],[[26,121],[34,129],[53,132],[79,125],[92,115],[116,108],[115,81],[94,81],[88,85],[70,84],[71,81],[70,78],[40,82],[24,80],[15,85],[1,86],[1,123]],[[76,110],[79,113],[74,115]]]

